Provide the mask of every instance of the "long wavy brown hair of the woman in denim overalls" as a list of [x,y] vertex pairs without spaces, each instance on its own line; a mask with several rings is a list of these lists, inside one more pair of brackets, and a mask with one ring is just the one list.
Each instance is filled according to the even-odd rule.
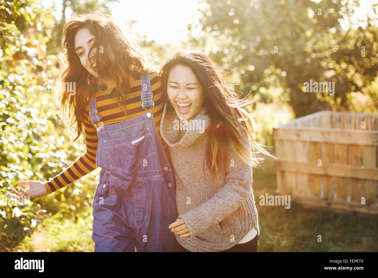
[[[82,28],[88,28],[89,32],[96,36],[89,53],[93,48],[99,49],[100,46],[104,50],[95,53],[97,78],[83,67],[75,51],[75,35]],[[129,36],[126,38],[125,35]],[[58,82],[62,84],[59,121],[63,122],[71,134],[74,130],[76,138],[73,141],[76,141],[82,132],[83,119],[86,117],[85,106],[90,94],[98,91],[98,86],[104,84],[105,77],[116,81],[115,97],[127,115],[122,103],[128,98],[126,93],[131,86],[129,75],[150,72],[155,64],[152,59],[147,58],[140,41],[132,36],[131,32],[122,33],[112,16],[99,11],[74,16],[64,26],[62,42],[63,50],[57,55]],[[93,66],[91,59],[89,61]],[[64,84],[75,84],[75,93],[71,94]]]

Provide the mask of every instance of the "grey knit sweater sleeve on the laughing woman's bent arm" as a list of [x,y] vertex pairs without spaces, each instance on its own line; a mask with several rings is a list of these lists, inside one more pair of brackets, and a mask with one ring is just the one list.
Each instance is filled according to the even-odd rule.
[[[243,145],[250,150],[248,159],[251,160],[250,141],[244,138]],[[243,162],[230,143],[228,151],[231,156],[225,162],[225,185],[211,199],[177,217],[184,219],[191,235],[188,239],[221,222],[237,210],[251,192],[252,166]]]

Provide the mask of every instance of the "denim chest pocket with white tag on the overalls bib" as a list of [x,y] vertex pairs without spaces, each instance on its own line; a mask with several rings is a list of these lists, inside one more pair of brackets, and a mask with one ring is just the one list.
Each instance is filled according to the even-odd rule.
[[126,173],[134,172],[141,163],[156,153],[149,128],[131,136],[105,140],[104,147],[109,167]]

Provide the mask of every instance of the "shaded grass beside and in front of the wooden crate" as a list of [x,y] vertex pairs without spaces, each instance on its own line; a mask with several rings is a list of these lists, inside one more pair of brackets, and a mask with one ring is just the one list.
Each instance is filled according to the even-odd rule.
[[[259,196],[274,195],[276,174],[273,160],[265,169],[254,169],[253,193],[259,213],[258,252],[377,252],[378,217],[363,213],[337,213],[306,208],[291,202],[283,206],[260,206]],[[321,235],[321,242],[318,242]]]

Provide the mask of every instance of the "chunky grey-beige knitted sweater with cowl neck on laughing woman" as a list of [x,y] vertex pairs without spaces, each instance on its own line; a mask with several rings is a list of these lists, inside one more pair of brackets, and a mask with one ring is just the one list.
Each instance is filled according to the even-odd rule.
[[[172,160],[177,220],[184,219],[191,234],[189,238],[175,236],[189,251],[217,252],[236,245],[253,227],[260,234],[251,187],[252,167],[228,144],[232,156],[220,166],[213,183],[205,158],[211,123],[206,109],[194,120],[192,123],[198,125],[192,125],[192,129],[190,126],[187,130],[178,129],[180,119],[172,105],[165,104],[160,122],[161,136]],[[251,148],[249,141],[244,140],[244,143]]]

